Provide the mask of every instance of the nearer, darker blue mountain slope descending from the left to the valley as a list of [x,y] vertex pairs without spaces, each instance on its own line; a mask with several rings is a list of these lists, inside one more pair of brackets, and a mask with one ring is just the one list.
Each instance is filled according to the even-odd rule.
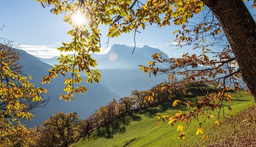
[[116,93],[110,92],[102,84],[86,84],[83,83],[88,92],[84,95],[75,95],[75,101],[65,102],[64,100],[59,100],[59,93],[63,92],[64,88],[64,76],[58,76],[53,79],[50,84],[41,84],[41,78],[48,74],[48,69],[52,68],[37,57],[27,54],[23,50],[18,50],[21,54],[19,64],[23,66],[24,74],[29,74],[32,76],[32,82],[36,86],[40,86],[48,90],[48,93],[44,94],[44,97],[49,97],[50,101],[44,108],[36,108],[34,110],[35,117],[32,121],[22,120],[24,124],[28,127],[39,126],[43,121],[48,119],[51,115],[58,111],[63,111],[64,113],[76,112],[81,118],[86,118],[92,114],[100,106],[107,104],[113,98],[119,99],[120,96]]

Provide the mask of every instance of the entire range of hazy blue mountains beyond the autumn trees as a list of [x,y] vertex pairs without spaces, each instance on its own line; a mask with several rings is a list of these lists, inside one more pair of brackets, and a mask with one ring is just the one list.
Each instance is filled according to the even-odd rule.
[[[137,47],[132,55],[133,47],[115,44],[107,54],[92,54],[98,61],[98,67],[102,74],[100,83],[86,84],[88,92],[84,95],[75,95],[75,101],[65,102],[59,100],[59,93],[63,93],[64,79],[62,75],[58,75],[50,84],[41,84],[41,78],[48,74],[48,69],[51,65],[57,64],[57,57],[43,59],[27,54],[23,50],[19,50],[22,54],[20,57],[20,65],[23,66],[25,74],[32,76],[32,82],[36,86],[44,87],[48,93],[44,97],[49,97],[50,101],[44,108],[37,108],[35,118],[32,122],[23,121],[27,126],[40,125],[50,115],[58,111],[64,113],[76,112],[81,118],[86,118],[102,105],[106,105],[113,98],[119,99],[124,96],[129,96],[132,90],[147,90],[151,86],[163,82],[166,79],[165,75],[149,78],[149,75],[143,75],[139,71],[138,65],[147,65],[148,61],[152,60],[151,55],[161,53],[161,50],[144,46]],[[113,54],[117,57],[113,60]],[[168,57],[166,54],[163,56]],[[50,65],[49,65],[50,64]]]

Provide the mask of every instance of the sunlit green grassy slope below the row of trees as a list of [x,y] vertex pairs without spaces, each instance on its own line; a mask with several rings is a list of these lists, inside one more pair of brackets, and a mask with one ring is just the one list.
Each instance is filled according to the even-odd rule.
[[[198,87],[194,87],[190,92],[192,92],[192,95],[186,95],[187,98],[203,95]],[[242,95],[241,100],[243,101],[233,100],[233,103],[229,104],[235,112],[226,111],[227,113],[236,115],[254,104],[252,97],[246,93],[242,93]],[[181,132],[177,132],[177,124],[174,124],[173,127],[162,122],[161,125],[155,126],[156,118],[154,116],[157,114],[174,115],[178,110],[186,111],[186,107],[179,106],[179,108],[173,109],[172,104],[168,102],[157,107],[135,111],[132,115],[125,115],[112,125],[95,131],[89,139],[81,138],[72,147],[124,147],[125,144],[126,147],[180,147],[188,145],[187,142],[194,142],[193,144],[196,146],[197,142],[204,141],[201,137],[209,134],[211,132],[210,128],[216,128],[214,123],[216,118],[213,121],[206,120],[205,123],[201,120],[205,132],[196,136],[194,126],[198,125],[199,122],[192,122],[189,127],[185,123],[180,123],[184,126],[186,139],[178,140],[178,135]]]

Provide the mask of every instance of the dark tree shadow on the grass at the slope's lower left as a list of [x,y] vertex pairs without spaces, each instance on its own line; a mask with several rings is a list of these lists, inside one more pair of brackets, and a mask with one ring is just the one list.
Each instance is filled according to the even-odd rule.
[[122,115],[117,120],[110,122],[109,124],[102,126],[94,131],[93,138],[97,139],[98,137],[102,138],[113,138],[113,135],[117,133],[125,133],[126,126],[130,125],[133,121],[140,121],[141,117],[134,115],[132,112],[127,112]]

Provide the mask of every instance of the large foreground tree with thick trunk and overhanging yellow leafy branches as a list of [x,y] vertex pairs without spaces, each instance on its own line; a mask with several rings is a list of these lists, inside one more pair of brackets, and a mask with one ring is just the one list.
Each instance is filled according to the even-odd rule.
[[[73,41],[63,43],[64,46],[58,50],[73,51],[74,57],[62,55],[59,58],[60,65],[49,70],[49,75],[42,79],[43,83],[50,82],[58,74],[72,72],[72,77],[65,80],[67,94],[61,94],[61,98],[65,100],[71,100],[74,93],[86,92],[81,86],[74,87],[74,84],[82,81],[78,72],[86,72],[87,82],[99,81],[98,71],[90,70],[96,61],[88,54],[90,51],[100,51],[99,24],[109,25],[108,37],[117,37],[131,31],[136,35],[146,25],[157,24],[162,27],[173,21],[174,25],[181,25],[182,28],[173,32],[177,37],[177,48],[192,47],[199,54],[185,53],[177,59],[166,59],[162,54],[154,54],[149,66],[141,66],[141,70],[153,75],[164,73],[169,79],[173,75],[188,75],[177,81],[176,86],[169,84],[162,87],[171,92],[180,86],[184,87],[182,92],[185,93],[187,86],[203,83],[214,86],[215,91],[200,97],[195,103],[184,101],[188,107],[196,106],[197,109],[188,113],[180,111],[177,116],[169,117],[170,121],[189,123],[193,119],[197,120],[198,115],[207,115],[205,110],[224,110],[223,103],[232,102],[231,88],[236,92],[245,90],[239,80],[246,83],[249,89],[246,91],[256,101],[256,27],[242,0],[147,0],[145,3],[139,0],[37,1],[41,1],[43,7],[53,5],[51,12],[54,14],[67,13],[64,21],[73,26],[68,32]],[[78,13],[88,20],[89,25],[78,24],[72,20]],[[191,19],[195,16],[200,16],[200,19]],[[216,50],[216,47],[222,50]],[[169,66],[159,68],[157,63]],[[142,107],[142,103],[140,105]]]

